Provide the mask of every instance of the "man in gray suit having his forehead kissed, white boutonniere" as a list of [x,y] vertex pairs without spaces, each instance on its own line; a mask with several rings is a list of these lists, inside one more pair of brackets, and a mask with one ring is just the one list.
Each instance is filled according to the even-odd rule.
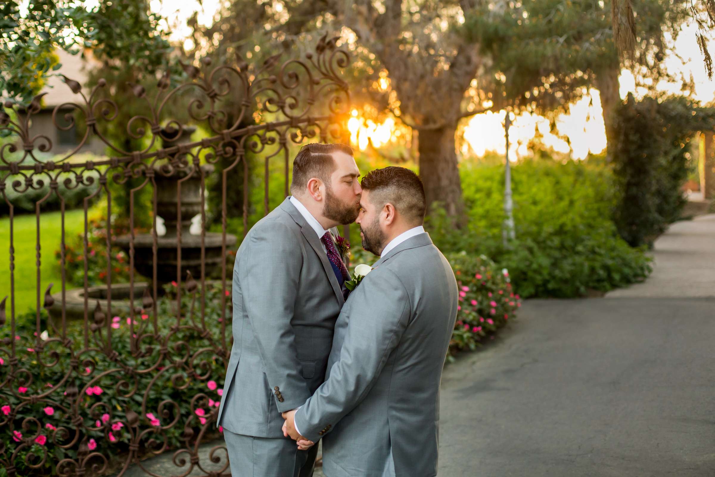
[[362,186],[363,247],[381,257],[337,318],[325,383],[283,414],[286,433],[301,448],[322,438],[327,477],[436,476],[457,282],[422,227],[417,174],[386,167]]

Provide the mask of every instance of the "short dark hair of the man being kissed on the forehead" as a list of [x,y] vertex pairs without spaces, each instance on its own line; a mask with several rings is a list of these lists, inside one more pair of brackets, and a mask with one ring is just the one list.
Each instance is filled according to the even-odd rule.
[[420,177],[410,169],[396,166],[375,169],[363,177],[360,185],[363,190],[370,191],[370,202],[378,210],[389,202],[415,225],[422,225],[425,221],[425,187]]

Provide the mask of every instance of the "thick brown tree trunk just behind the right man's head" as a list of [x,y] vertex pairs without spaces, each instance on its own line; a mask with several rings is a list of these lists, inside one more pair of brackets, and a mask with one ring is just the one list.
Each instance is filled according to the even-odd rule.
[[425,185],[428,212],[433,202],[441,202],[447,215],[463,219],[462,185],[459,180],[455,132],[457,126],[448,124],[440,129],[420,131],[420,178]]

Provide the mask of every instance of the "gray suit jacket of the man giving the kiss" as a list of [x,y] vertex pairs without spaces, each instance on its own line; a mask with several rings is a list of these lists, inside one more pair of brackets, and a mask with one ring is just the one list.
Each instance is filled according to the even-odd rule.
[[233,267],[233,346],[217,425],[283,438],[281,413],[325,379],[342,290],[315,230],[286,199],[246,235]]

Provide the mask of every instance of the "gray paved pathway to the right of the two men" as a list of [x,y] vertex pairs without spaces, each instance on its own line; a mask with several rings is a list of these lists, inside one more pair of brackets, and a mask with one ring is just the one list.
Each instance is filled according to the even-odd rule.
[[529,300],[448,366],[440,476],[715,476],[715,215],[654,257],[605,298]]

